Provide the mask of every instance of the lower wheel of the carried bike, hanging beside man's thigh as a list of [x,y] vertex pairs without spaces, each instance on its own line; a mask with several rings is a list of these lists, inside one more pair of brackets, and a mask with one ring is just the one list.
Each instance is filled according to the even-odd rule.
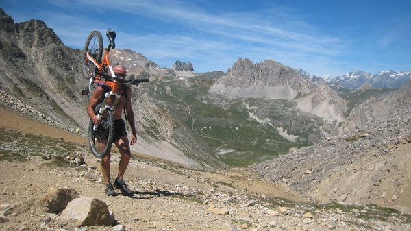
[[[95,108],[95,113],[99,113],[101,104]],[[97,158],[103,158],[110,152],[113,144],[114,136],[114,117],[111,110],[104,112],[101,117],[101,123],[97,126],[97,130],[94,130],[94,123],[90,119],[88,124],[88,143],[92,154]]]

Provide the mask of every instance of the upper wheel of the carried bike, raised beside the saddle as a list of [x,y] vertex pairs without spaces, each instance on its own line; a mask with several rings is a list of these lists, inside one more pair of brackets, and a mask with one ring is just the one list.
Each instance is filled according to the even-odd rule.
[[103,37],[101,37],[100,32],[91,32],[83,49],[83,75],[86,79],[90,79],[90,77],[95,76],[95,71],[98,71],[99,68],[86,58],[86,53],[92,56],[96,62],[101,62],[101,58],[103,56]]

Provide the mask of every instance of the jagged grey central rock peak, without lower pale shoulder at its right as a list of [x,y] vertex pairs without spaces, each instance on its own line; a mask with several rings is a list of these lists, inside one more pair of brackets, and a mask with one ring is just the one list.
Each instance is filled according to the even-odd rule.
[[310,93],[310,82],[299,72],[273,60],[254,64],[249,59],[238,58],[210,88],[229,98],[295,99],[297,95]]

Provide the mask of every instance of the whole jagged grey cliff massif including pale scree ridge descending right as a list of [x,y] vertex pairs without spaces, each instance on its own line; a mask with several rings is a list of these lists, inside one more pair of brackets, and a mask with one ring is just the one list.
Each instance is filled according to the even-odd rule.
[[230,99],[264,98],[295,101],[297,108],[330,123],[345,119],[347,103],[323,81],[313,81],[301,71],[273,60],[254,64],[238,58],[209,92]]

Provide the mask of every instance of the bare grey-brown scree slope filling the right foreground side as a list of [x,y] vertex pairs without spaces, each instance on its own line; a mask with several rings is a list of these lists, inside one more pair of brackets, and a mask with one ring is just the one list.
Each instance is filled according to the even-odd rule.
[[308,199],[410,211],[411,83],[351,112],[343,134],[251,169]]

